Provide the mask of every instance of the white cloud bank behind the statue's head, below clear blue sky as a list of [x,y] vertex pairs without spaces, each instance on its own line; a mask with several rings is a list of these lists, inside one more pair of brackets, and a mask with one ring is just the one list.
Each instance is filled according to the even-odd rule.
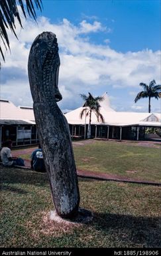
[[[61,61],[59,86],[63,95],[60,106],[63,109],[80,106],[82,100],[79,94],[88,91],[95,94],[99,88],[101,95],[105,91],[111,94],[109,88],[139,90],[140,82],[149,83],[152,79],[160,83],[160,51],[145,49],[136,53],[118,53],[108,45],[91,43],[90,33],[105,31],[105,27],[97,21],[88,23],[83,20],[76,26],[67,19],[52,24],[46,17],[40,17],[38,25],[29,19],[28,22],[23,22],[23,30],[18,24],[16,26],[19,41],[9,33],[11,55],[9,52],[5,55],[6,63],[3,63],[1,69],[1,97],[8,98],[17,105],[20,102],[22,105],[22,101],[25,105],[31,105],[27,75],[28,54],[35,37],[44,30],[52,31],[58,38]],[[11,70],[15,72],[15,79],[9,76]],[[112,101],[117,106],[115,97]],[[140,107],[134,105],[132,109],[140,110]]]

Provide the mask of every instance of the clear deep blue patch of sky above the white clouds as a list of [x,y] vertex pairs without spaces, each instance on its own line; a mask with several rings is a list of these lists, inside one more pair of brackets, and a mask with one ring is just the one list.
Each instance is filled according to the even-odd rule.
[[[54,23],[66,18],[74,24],[82,19],[97,20],[109,27],[108,38],[116,51],[160,49],[160,2],[156,0],[42,1],[42,15]],[[103,43],[107,33],[90,35],[91,41]]]

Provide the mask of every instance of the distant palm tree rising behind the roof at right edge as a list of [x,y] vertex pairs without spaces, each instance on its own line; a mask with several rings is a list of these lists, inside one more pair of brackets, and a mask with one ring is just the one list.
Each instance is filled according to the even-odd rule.
[[144,90],[138,92],[134,102],[136,103],[138,100],[140,100],[140,98],[148,98],[148,112],[150,113],[150,100],[151,98],[156,98],[158,100],[159,93],[161,91],[161,85],[156,84],[156,81],[152,80],[149,85],[144,84],[144,82],[140,82],[140,86],[142,86]]

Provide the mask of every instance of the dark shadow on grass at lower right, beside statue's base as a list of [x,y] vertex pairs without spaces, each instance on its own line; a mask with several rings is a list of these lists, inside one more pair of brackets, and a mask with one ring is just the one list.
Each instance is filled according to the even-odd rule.
[[94,213],[93,225],[121,246],[161,247],[161,217]]

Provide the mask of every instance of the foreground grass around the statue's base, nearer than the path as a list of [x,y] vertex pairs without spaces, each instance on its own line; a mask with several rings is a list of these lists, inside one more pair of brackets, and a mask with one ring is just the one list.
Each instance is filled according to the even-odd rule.
[[1,247],[161,247],[158,186],[80,179],[80,206],[93,221],[64,227],[48,219],[46,174],[0,170]]

